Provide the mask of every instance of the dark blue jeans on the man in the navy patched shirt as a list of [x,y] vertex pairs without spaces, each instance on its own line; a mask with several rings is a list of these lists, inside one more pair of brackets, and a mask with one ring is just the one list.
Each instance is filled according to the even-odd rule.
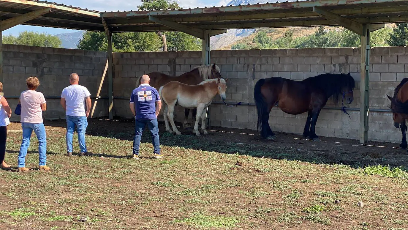
[[160,154],[159,125],[157,119],[152,120],[135,120],[135,138],[133,139],[133,154],[139,155],[140,139],[146,125],[149,127],[152,136],[154,153]]

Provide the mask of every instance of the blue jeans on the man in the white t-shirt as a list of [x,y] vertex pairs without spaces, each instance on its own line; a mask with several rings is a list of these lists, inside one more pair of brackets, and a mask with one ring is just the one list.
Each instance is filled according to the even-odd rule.
[[85,145],[85,130],[88,126],[86,116],[68,116],[67,115],[67,152],[72,152],[72,136],[77,126],[78,143],[81,152],[87,152]]

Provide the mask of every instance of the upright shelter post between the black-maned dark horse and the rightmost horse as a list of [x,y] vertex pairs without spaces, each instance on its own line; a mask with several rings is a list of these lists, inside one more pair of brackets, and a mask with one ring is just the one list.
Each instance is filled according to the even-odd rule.
[[363,25],[361,36],[361,81],[360,81],[360,143],[368,141],[368,98],[370,83],[370,29]]

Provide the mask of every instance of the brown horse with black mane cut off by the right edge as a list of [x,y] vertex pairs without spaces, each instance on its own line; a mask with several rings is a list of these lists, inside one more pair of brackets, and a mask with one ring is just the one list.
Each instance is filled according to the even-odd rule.
[[[407,148],[407,125],[405,120],[408,118],[408,78],[401,80],[401,83],[395,87],[394,96],[387,97],[391,100],[390,109],[393,113],[394,126],[398,129],[401,127],[402,141],[399,145],[400,149]],[[408,152],[408,150],[407,150]]]

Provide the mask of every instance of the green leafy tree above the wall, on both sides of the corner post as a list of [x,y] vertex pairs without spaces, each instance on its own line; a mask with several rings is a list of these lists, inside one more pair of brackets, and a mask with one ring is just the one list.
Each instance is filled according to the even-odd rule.
[[[107,51],[108,40],[104,32],[86,31],[77,45],[78,49]],[[158,51],[162,47],[154,32],[113,33],[112,51]]]

